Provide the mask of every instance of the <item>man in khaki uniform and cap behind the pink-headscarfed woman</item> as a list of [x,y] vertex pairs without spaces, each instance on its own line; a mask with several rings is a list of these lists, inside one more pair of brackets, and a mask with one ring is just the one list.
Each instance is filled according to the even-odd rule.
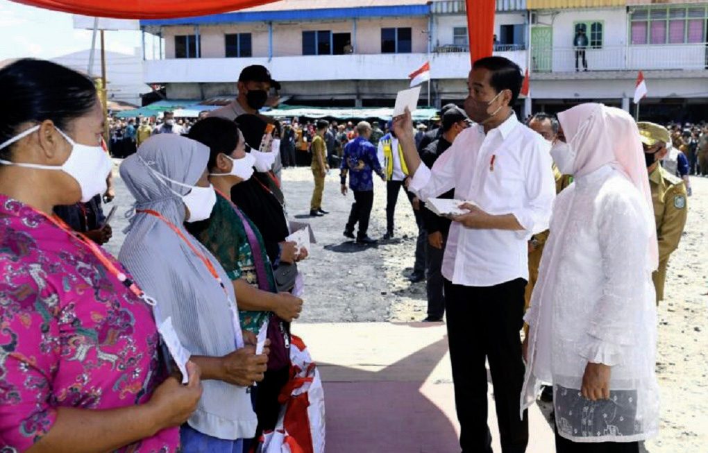
[[672,146],[666,127],[653,122],[639,122],[637,125],[641,143],[644,145],[646,168],[649,171],[649,186],[659,245],[659,268],[652,275],[658,304],[663,300],[668,257],[678,248],[678,242],[686,225],[687,193],[683,180],[670,174],[659,164]]

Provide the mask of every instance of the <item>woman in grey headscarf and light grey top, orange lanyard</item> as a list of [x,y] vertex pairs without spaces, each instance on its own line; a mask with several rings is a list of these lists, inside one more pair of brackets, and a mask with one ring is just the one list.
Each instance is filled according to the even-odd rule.
[[207,161],[207,147],[176,134],[147,139],[123,161],[137,203],[119,258],[156,299],[158,323],[171,319],[202,369],[204,394],[181,428],[183,451],[232,453],[256,432],[247,386],[263,379],[268,357],[244,345],[226,271],[183,226],[212,212]]

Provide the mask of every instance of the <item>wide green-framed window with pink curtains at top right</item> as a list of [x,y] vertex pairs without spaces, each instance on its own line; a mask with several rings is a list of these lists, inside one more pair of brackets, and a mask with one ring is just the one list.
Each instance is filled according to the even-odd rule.
[[707,22],[706,6],[635,9],[629,16],[629,42],[633,45],[706,42]]

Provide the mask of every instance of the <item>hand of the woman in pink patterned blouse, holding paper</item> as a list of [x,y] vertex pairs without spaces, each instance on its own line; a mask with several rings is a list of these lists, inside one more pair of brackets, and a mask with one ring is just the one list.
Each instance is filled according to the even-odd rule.
[[189,382],[182,385],[176,377],[169,377],[155,389],[147,403],[154,408],[159,430],[182,425],[197,408],[202,397],[201,372],[194,362],[187,362]]

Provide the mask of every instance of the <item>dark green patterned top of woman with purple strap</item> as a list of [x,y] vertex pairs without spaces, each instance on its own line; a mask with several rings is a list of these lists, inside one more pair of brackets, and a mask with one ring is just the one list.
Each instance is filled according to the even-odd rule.
[[[244,217],[246,217],[245,214]],[[248,217],[246,219],[248,219],[253,232],[258,236],[265,272],[268,274],[268,286],[275,292],[273,268],[270,266],[268,254],[265,253],[263,237],[256,225]],[[239,215],[234,212],[234,205],[229,200],[218,195],[217,204],[212,210],[212,217],[204,222],[187,224],[187,229],[219,260],[231,280],[243,278],[249,282],[249,285],[258,287],[256,265],[253,263],[253,250],[246,236],[244,224]],[[263,323],[270,317],[270,311],[239,310],[239,316],[241,328],[258,333]]]

